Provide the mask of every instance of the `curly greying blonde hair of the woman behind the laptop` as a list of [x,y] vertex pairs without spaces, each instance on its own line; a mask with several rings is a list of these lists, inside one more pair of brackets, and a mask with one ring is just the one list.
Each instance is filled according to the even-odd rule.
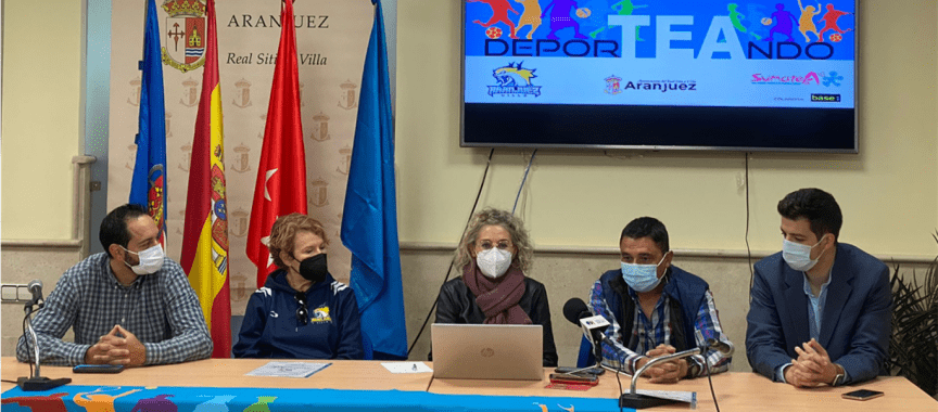
[[456,249],[457,268],[465,268],[466,265],[472,261],[472,252],[476,247],[476,241],[479,240],[479,232],[486,226],[499,226],[511,236],[511,244],[516,248],[511,266],[520,269],[522,272],[531,269],[534,257],[534,245],[531,243],[531,237],[528,236],[528,231],[524,230],[524,223],[520,218],[507,210],[491,207],[486,207],[482,211],[472,215],[469,229]]

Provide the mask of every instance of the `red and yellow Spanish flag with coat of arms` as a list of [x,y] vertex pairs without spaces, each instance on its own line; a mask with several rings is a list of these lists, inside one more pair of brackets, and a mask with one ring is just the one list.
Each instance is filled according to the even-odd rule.
[[231,357],[231,301],[228,289],[228,210],[225,195],[225,133],[218,81],[215,1],[207,1],[208,29],[202,96],[192,139],[192,165],[182,235],[182,269],[202,302],[214,349],[213,358]]

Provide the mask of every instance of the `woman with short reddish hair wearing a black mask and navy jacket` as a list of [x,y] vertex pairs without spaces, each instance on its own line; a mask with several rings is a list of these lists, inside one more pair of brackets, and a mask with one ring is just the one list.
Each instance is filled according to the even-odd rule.
[[236,358],[362,359],[358,304],[326,266],[326,231],[291,214],[270,229],[268,249],[279,268],[248,300]]

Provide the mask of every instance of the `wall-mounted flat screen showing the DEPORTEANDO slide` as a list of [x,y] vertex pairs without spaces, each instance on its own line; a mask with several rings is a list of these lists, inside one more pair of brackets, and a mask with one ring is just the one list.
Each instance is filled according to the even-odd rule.
[[855,0],[467,0],[462,146],[857,153]]

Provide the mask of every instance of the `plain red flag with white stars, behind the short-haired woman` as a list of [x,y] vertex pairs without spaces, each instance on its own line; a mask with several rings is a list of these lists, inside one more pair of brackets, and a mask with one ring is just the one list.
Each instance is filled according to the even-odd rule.
[[303,149],[303,125],[300,119],[300,80],[296,70],[296,33],[292,24],[293,1],[287,0],[280,12],[280,47],[274,67],[270,104],[251,226],[248,229],[248,257],[257,267],[257,287],[264,286],[274,271],[267,250],[270,227],[278,217],[299,211],[306,214],[306,152]]

